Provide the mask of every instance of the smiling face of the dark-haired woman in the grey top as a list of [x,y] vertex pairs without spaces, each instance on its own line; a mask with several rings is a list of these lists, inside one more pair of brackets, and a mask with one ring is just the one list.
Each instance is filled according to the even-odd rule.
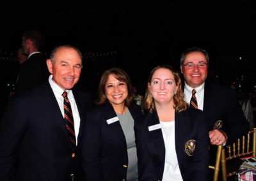
[[113,107],[124,106],[128,96],[127,84],[117,80],[114,75],[109,75],[105,86],[105,94]]

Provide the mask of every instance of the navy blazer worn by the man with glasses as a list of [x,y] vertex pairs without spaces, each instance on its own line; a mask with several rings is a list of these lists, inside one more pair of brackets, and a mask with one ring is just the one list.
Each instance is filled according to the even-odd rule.
[[236,92],[230,87],[205,82],[204,114],[209,130],[214,129],[216,121],[223,121],[222,129],[228,136],[228,143],[237,142],[250,129],[237,101]]

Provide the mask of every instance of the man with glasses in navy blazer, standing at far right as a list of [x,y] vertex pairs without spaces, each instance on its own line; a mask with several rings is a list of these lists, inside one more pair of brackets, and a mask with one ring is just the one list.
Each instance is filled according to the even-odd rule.
[[180,69],[185,80],[184,98],[190,103],[192,91],[196,91],[196,106],[205,113],[211,145],[225,145],[227,141],[233,143],[248,133],[249,122],[244,117],[234,90],[205,82],[208,66],[209,55],[204,49],[192,47],[182,53]]

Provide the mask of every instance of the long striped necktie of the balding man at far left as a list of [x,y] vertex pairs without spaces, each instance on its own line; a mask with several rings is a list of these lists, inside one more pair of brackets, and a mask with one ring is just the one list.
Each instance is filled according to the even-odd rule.
[[74,119],[73,119],[71,105],[70,105],[70,102],[68,100],[68,93],[66,91],[64,91],[62,96],[64,98],[64,103],[63,103],[63,106],[64,106],[64,120],[66,122],[68,136],[70,138],[72,146],[76,147],[76,134],[75,134],[75,129],[74,129]]

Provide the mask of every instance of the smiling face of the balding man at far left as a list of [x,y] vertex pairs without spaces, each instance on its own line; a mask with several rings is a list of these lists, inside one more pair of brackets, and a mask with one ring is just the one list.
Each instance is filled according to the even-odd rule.
[[74,48],[61,47],[56,51],[54,62],[47,60],[49,72],[52,74],[52,81],[64,91],[72,89],[78,82],[82,59]]

